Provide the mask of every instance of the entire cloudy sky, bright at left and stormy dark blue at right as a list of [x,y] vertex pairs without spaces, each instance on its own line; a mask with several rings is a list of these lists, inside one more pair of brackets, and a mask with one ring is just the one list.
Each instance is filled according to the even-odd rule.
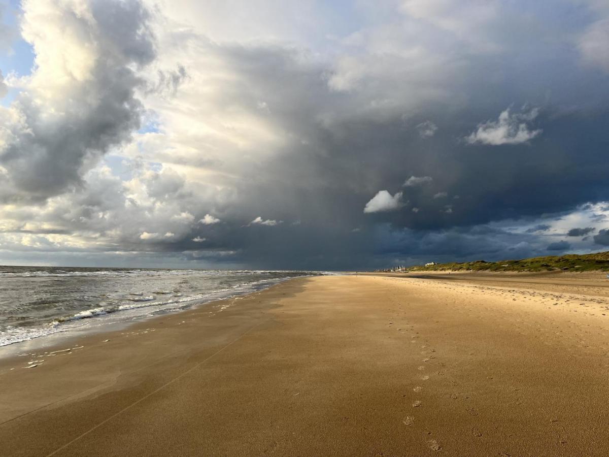
[[0,263],[609,250],[607,0],[0,0]]

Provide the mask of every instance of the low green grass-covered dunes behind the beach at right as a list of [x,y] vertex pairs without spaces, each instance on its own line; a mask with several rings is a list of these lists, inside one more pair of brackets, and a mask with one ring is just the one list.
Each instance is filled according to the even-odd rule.
[[549,255],[521,260],[452,262],[414,266],[407,271],[609,271],[609,252]]

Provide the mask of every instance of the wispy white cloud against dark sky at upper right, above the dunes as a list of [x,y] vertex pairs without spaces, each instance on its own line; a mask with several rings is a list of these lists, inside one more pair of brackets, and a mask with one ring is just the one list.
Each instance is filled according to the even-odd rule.
[[466,136],[465,141],[469,144],[479,143],[493,146],[526,143],[541,133],[541,129],[529,130],[527,126],[527,122],[533,121],[537,115],[538,110],[536,108],[527,113],[513,113],[511,115],[510,108],[507,108],[501,112],[497,121],[478,124],[477,130]]

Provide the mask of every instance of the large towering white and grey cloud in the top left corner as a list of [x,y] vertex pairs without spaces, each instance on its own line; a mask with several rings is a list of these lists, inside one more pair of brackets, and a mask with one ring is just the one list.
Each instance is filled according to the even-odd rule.
[[0,166],[4,198],[44,200],[82,185],[138,129],[137,72],[154,60],[155,45],[136,1],[26,0],[22,8],[35,67],[15,101],[0,107]]

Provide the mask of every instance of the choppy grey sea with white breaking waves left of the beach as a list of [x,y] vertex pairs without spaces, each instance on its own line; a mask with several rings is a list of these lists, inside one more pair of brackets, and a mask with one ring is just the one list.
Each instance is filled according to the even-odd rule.
[[313,271],[0,266],[0,347],[174,313]]

